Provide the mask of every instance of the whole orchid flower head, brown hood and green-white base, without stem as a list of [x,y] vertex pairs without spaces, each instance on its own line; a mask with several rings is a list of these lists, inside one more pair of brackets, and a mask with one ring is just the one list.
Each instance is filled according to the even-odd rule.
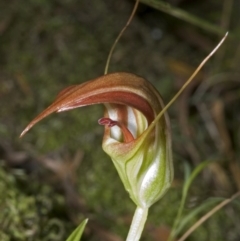
[[[149,208],[173,179],[170,123],[158,91],[130,73],[112,73],[60,92],[55,101],[32,120],[21,135],[53,112],[104,104],[98,123],[105,126],[103,150],[111,157],[133,202]],[[151,125],[152,123],[152,125]]]

